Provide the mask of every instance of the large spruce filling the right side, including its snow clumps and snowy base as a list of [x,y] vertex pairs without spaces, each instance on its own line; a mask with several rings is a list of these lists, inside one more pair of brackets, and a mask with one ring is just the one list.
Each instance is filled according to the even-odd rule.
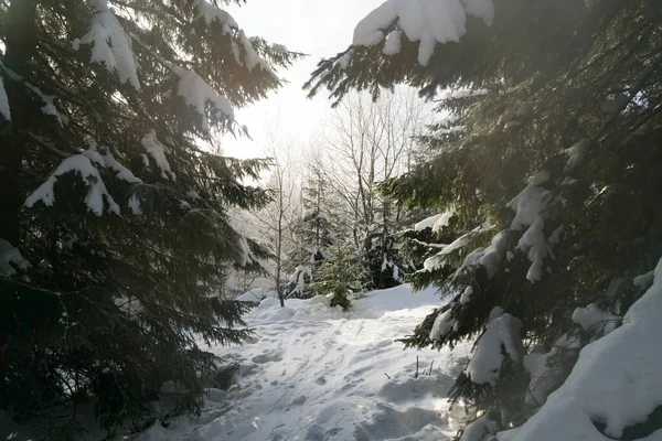
[[430,257],[452,299],[405,342],[476,338],[465,441],[660,434],[661,22],[645,0],[388,0],[308,84],[406,82],[450,118],[382,189],[455,211]]

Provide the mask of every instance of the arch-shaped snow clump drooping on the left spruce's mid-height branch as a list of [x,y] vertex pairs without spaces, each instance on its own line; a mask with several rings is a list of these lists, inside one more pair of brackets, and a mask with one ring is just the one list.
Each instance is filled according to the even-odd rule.
[[[98,153],[97,153],[98,154]],[[57,178],[66,173],[77,173],[81,179],[88,187],[87,195],[85,196],[85,204],[88,209],[100,216],[104,212],[104,200],[108,204],[108,212],[120,214],[119,206],[113,200],[113,196],[106,190],[106,184],[102,180],[99,171],[93,165],[89,158],[85,154],[75,154],[68,157],[55,169],[55,172],[49,176],[46,182],[41,184],[28,198],[25,200],[25,206],[32,207],[35,203],[42,202],[44,205],[53,206],[55,203],[54,186],[57,182]]]

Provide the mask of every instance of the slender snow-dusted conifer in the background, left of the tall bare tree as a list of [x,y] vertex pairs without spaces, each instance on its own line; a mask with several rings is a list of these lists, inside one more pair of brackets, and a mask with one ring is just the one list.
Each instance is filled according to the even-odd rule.
[[305,299],[316,295],[313,282],[335,241],[329,192],[321,169],[310,168],[301,189],[301,218],[292,227],[297,247],[288,259],[291,267],[288,297]]

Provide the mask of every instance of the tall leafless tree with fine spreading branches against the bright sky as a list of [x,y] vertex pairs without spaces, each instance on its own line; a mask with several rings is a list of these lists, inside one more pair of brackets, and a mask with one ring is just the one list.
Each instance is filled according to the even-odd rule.
[[412,89],[384,94],[374,103],[353,94],[323,126],[317,144],[325,152],[325,181],[342,197],[352,239],[364,252],[380,236],[384,248],[389,225],[399,223],[401,207],[381,197],[375,184],[407,170],[414,137],[430,122],[430,109]]

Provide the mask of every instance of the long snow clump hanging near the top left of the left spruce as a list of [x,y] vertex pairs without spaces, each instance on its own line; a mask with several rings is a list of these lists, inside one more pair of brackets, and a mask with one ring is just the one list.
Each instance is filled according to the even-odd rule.
[[93,63],[104,64],[110,72],[117,71],[121,84],[129,83],[140,90],[131,39],[108,9],[106,0],[92,0],[89,3],[97,13],[92,19],[89,31],[74,40],[74,50],[77,51],[81,44],[92,44]]

